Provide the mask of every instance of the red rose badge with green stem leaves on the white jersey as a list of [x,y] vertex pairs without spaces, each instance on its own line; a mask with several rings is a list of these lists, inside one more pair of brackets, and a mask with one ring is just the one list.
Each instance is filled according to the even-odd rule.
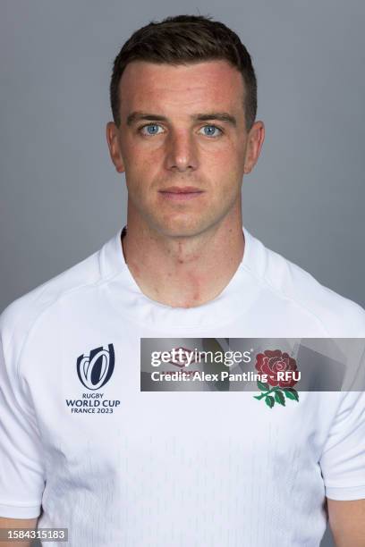
[[261,393],[254,395],[255,399],[265,400],[268,408],[273,408],[275,403],[284,407],[285,397],[299,402],[299,393],[293,388],[301,375],[295,359],[280,349],[266,349],[256,356],[256,369],[260,374],[265,374],[267,382],[258,380]]

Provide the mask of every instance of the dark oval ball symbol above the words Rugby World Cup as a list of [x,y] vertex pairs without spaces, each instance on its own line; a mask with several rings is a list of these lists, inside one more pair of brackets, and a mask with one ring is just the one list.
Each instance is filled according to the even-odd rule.
[[91,349],[89,355],[77,358],[77,374],[80,382],[92,391],[99,390],[110,380],[115,366],[115,351],[113,344],[107,349],[100,347]]

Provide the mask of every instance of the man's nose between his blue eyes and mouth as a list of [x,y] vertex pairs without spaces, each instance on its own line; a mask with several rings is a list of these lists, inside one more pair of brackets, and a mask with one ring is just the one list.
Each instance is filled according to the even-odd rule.
[[198,150],[187,131],[175,131],[166,142],[166,169],[183,173],[198,168]]

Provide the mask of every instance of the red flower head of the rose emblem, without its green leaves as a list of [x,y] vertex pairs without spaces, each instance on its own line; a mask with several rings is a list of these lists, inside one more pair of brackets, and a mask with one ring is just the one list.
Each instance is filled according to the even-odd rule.
[[287,353],[283,353],[280,349],[266,349],[264,353],[258,353],[256,356],[256,369],[260,374],[267,374],[267,383],[273,387],[292,388],[297,383],[297,380],[294,380],[291,374],[288,374],[287,380],[277,378],[278,372],[285,373],[297,370],[295,359]]

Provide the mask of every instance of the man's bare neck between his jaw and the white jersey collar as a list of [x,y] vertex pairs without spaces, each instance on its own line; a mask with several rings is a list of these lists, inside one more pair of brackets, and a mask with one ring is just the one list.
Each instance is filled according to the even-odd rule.
[[147,224],[127,220],[123,255],[132,277],[149,299],[172,307],[196,307],[215,299],[243,257],[239,214],[187,238],[166,237]]

